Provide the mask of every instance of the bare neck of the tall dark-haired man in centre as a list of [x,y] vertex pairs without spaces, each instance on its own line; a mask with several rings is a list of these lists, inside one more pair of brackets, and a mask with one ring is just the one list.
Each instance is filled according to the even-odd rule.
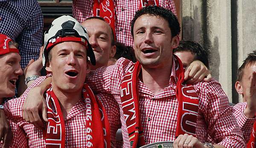
[[172,73],[172,62],[162,67],[148,68],[142,66],[140,80],[151,90],[154,95],[160,93],[169,86],[170,75]]

